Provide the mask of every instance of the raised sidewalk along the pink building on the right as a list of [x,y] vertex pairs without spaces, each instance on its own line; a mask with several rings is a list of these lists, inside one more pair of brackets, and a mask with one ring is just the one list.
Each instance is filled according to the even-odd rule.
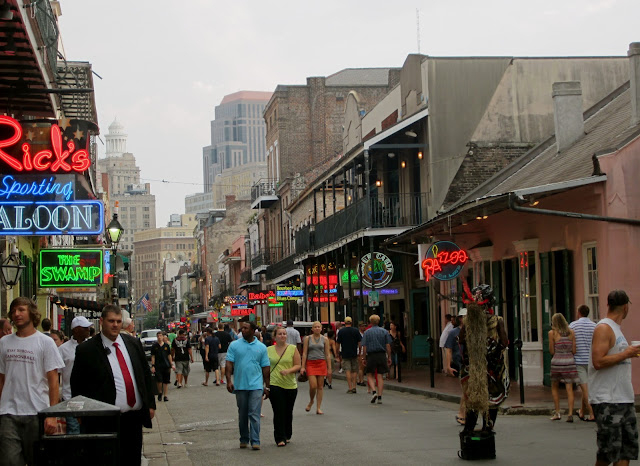
[[[385,389],[412,393],[414,395],[423,395],[451,403],[460,403],[462,389],[460,388],[459,380],[455,377],[448,377],[443,373],[436,373],[434,374],[434,386],[432,388],[428,366],[419,367],[417,369],[402,368],[401,375],[402,382],[385,380]],[[340,380],[346,379],[345,374],[339,374],[337,371],[333,373],[333,377]],[[363,390],[364,387],[358,387],[358,389]],[[561,392],[560,396],[561,400],[564,399],[564,405],[566,405],[566,393]],[[581,395],[578,390],[575,402],[576,410],[580,407],[580,396]],[[551,387],[525,386],[524,400],[524,403],[520,403],[520,386],[517,382],[512,380],[509,397],[502,406],[500,406],[501,413],[546,416],[550,415],[553,411]]]

